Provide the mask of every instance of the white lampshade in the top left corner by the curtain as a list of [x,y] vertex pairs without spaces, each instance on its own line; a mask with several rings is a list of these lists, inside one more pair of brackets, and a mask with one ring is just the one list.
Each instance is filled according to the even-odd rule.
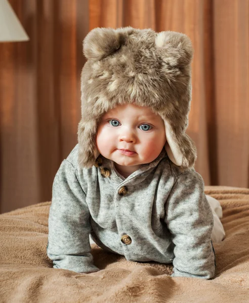
[[0,0],[0,41],[27,41],[28,35],[7,0]]

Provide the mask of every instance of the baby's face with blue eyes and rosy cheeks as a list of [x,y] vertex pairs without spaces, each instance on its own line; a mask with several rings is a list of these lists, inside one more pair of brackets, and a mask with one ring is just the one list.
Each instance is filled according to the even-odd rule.
[[102,116],[96,141],[100,154],[119,166],[150,163],[166,142],[164,122],[147,107],[120,105]]

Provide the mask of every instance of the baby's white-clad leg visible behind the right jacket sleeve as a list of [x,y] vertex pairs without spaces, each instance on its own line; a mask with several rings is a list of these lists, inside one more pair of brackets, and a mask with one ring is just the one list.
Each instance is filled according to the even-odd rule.
[[222,208],[219,201],[209,195],[206,195],[209,201],[213,215],[214,215],[214,228],[211,234],[211,239],[213,242],[221,242],[225,237],[225,231],[221,223],[220,218],[222,218]]

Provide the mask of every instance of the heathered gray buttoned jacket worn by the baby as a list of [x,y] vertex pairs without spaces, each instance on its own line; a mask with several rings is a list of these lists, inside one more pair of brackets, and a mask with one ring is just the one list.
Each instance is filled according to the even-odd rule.
[[174,277],[214,277],[214,218],[193,168],[180,171],[163,148],[125,179],[102,156],[99,167],[79,169],[77,154],[78,145],[53,184],[47,253],[54,268],[98,271],[91,234],[128,261],[173,263]]

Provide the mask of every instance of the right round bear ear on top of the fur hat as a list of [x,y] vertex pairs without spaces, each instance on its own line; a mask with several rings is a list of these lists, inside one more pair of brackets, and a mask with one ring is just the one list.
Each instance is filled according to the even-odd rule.
[[171,66],[183,66],[191,63],[193,48],[191,40],[182,33],[163,31],[155,38],[162,60]]

